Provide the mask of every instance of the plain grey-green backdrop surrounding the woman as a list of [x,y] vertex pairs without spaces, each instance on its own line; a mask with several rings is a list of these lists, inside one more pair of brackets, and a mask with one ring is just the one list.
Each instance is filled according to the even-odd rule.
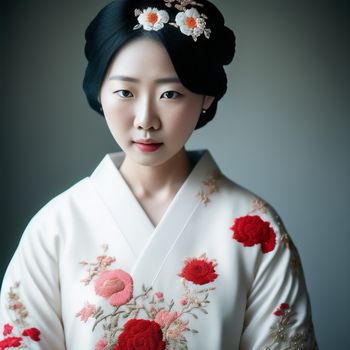
[[[84,30],[106,3],[1,4],[0,280],[35,212],[117,150],[81,89]],[[349,6],[214,3],[237,56],[217,117],[189,148],[209,148],[277,209],[303,260],[320,348],[349,348]]]

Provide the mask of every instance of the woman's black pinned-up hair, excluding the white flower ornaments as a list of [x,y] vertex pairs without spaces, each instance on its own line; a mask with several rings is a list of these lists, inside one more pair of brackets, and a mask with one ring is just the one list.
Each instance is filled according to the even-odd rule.
[[[169,1],[167,1],[169,2]],[[115,0],[105,6],[92,20],[85,32],[85,56],[88,66],[85,71],[83,89],[89,105],[103,115],[99,102],[99,92],[109,63],[114,55],[128,42],[139,37],[150,37],[159,41],[167,50],[181,83],[190,91],[201,95],[214,96],[215,100],[204,114],[196,129],[202,127],[215,116],[217,103],[227,90],[224,65],[229,64],[235,54],[235,35],[225,26],[221,12],[207,0],[199,0],[200,5],[189,5],[206,16],[206,28],[211,30],[210,38],[204,34],[195,41],[183,34],[179,28],[169,23],[157,31],[146,31],[138,24],[135,10],[148,7],[166,10],[170,21],[174,22],[182,0]],[[187,1],[191,3],[191,1]],[[195,3],[192,1],[192,3]],[[177,5],[175,7],[175,5]]]

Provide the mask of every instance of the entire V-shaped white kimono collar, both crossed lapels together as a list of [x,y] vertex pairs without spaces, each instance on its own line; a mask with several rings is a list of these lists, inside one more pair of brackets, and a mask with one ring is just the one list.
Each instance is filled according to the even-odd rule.
[[118,229],[133,252],[135,263],[128,271],[137,283],[152,285],[167,256],[185,231],[196,210],[203,181],[218,171],[208,151],[188,152],[197,161],[159,224],[154,227],[140,203],[119,173],[123,153],[105,156],[91,175],[91,181],[108,208]]

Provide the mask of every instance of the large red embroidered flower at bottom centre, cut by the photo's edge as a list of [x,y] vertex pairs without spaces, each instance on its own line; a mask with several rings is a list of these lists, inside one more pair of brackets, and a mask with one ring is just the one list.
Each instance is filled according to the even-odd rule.
[[113,350],[165,350],[163,332],[155,321],[129,320]]

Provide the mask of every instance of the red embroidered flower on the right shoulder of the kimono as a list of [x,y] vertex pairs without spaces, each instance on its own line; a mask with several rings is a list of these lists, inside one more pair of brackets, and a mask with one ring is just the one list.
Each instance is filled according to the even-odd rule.
[[242,243],[245,247],[261,244],[261,251],[268,253],[275,248],[276,234],[268,221],[263,221],[260,216],[247,215],[235,219],[230,229],[232,238]]

